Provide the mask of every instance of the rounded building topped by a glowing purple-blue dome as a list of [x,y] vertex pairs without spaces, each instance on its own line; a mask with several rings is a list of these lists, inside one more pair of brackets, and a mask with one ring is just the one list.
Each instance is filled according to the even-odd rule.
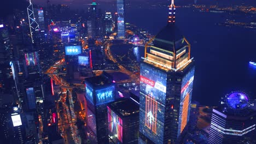
[[232,92],[213,109],[208,143],[255,143],[256,110],[251,109],[249,97]]

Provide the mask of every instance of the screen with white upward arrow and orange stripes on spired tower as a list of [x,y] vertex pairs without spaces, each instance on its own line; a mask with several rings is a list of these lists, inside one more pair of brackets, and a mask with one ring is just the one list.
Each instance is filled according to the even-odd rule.
[[143,93],[139,98],[139,104],[139,131],[154,143],[162,143],[165,118],[164,105]]

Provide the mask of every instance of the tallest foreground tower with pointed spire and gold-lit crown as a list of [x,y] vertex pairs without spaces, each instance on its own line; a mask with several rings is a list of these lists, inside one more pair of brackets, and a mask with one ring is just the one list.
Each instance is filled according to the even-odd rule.
[[190,44],[174,24],[175,9],[172,1],[167,25],[145,46],[139,143],[178,143],[189,121],[195,68]]

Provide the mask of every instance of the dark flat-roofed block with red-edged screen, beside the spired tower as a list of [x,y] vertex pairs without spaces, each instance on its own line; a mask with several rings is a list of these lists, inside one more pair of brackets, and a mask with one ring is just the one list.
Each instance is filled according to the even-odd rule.
[[138,143],[139,105],[131,99],[108,105],[109,143]]

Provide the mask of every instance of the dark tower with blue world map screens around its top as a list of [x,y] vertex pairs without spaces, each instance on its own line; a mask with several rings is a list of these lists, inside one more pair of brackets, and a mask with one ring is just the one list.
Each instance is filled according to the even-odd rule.
[[85,79],[88,139],[91,143],[108,143],[107,104],[115,100],[115,83],[103,73]]

